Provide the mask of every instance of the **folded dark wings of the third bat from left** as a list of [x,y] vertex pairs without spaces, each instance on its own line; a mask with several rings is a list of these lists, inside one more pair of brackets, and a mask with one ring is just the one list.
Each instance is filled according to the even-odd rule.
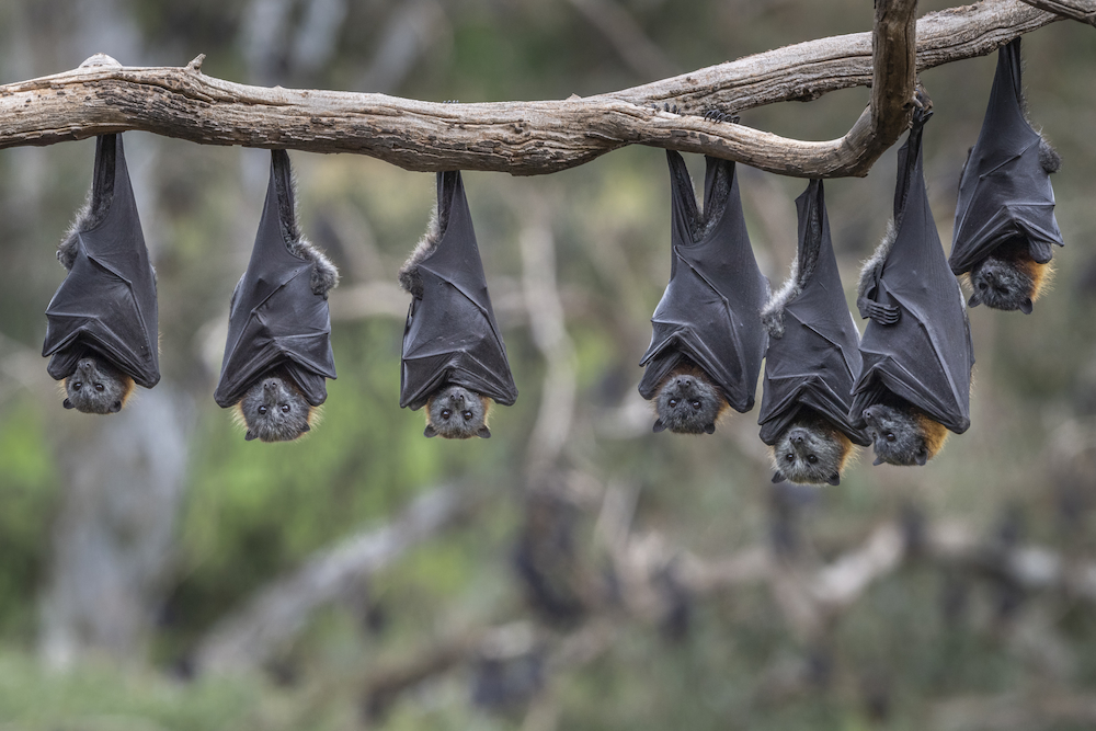
[[437,206],[445,230],[419,264],[423,295],[412,300],[403,330],[400,407],[421,409],[443,384],[509,407],[517,400],[517,387],[491,308],[459,171],[437,174]]

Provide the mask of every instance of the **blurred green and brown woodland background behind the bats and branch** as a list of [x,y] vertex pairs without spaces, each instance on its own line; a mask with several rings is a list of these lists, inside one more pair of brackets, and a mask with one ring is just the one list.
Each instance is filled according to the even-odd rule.
[[[920,12],[946,8],[923,2]],[[864,0],[3,0],[0,83],[94,53],[264,85],[563,99],[868,31]],[[923,468],[772,486],[756,411],[651,434],[637,366],[669,277],[665,155],[467,173],[521,390],[493,437],[401,411],[396,272],[434,176],[292,153],[302,227],[343,273],[322,424],[246,443],[217,408],[263,150],[125,136],[159,273],[163,379],[61,409],[39,356],[54,251],[94,142],[0,151],[0,729],[1082,729],[1096,726],[1096,36],[1024,38],[1064,160],[1066,248],[1031,316],[971,311],[972,426]],[[931,201],[956,189],[995,57],[923,76]],[[843,135],[865,89],[743,113]],[[703,160],[690,157],[695,176]],[[850,302],[894,150],[826,182]],[[806,181],[739,167],[762,270]],[[760,402],[760,395],[758,395]]]

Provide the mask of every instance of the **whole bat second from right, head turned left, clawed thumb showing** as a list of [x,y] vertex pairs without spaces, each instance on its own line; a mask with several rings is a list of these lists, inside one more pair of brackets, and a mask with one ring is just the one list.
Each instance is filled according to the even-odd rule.
[[929,114],[914,112],[899,150],[893,221],[860,273],[857,307],[870,320],[849,422],[867,430],[876,464],[924,465],[943,444],[945,427],[962,434],[970,426],[970,324],[922,171]]

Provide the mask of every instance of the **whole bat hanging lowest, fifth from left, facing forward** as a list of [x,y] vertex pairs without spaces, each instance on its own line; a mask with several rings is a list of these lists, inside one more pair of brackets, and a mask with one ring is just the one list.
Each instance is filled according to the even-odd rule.
[[774,481],[838,484],[854,444],[870,444],[848,418],[860,373],[859,333],[845,304],[821,180],[796,199],[799,254],[762,311],[768,333],[762,442]]

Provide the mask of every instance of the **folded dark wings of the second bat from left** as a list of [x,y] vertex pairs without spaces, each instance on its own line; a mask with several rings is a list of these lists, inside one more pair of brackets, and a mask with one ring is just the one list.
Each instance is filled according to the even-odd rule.
[[214,393],[221,407],[239,401],[273,368],[288,374],[305,400],[318,407],[328,397],[326,379],[335,377],[328,301],[312,294],[311,262],[286,245],[295,216],[289,157],[273,150],[251,262],[232,295],[225,361]]

